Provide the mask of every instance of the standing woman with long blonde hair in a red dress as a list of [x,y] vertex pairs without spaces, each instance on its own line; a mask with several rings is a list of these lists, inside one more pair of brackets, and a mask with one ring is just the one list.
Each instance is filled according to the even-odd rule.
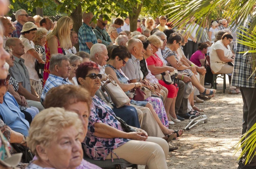
[[53,31],[46,36],[45,42],[45,53],[46,53],[46,63],[44,66],[44,84],[49,76],[49,65],[51,55],[61,53],[62,49],[72,48],[72,43],[70,40],[70,31],[73,27],[73,20],[68,16],[61,17],[57,26],[54,27]]

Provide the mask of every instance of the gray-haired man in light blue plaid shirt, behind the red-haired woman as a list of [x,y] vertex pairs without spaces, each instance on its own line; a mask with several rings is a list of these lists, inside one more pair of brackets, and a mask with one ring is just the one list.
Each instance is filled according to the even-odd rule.
[[70,75],[71,67],[69,65],[69,58],[63,54],[55,54],[51,57],[50,60],[50,74],[47,78],[44,89],[41,95],[41,101],[43,102],[46,93],[57,86],[62,84],[73,84],[69,81],[68,77]]

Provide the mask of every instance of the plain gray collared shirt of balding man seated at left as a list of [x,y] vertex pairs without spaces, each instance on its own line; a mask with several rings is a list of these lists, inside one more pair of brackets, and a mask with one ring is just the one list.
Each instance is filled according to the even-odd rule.
[[22,86],[31,93],[29,73],[24,63],[25,60],[16,56],[14,56],[14,59],[14,65],[9,69],[9,73],[18,83],[22,82]]

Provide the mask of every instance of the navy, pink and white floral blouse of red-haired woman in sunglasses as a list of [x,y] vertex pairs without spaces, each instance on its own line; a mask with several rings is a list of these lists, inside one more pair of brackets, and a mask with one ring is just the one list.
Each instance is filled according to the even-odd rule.
[[[126,138],[101,138],[95,136],[95,123],[103,123],[117,130],[124,131],[111,107],[107,106],[97,96],[93,97],[91,111],[88,122],[88,131],[84,142],[82,143],[85,153],[89,158],[96,160],[105,160],[109,153],[114,149],[127,143]],[[114,154],[113,154],[114,155]],[[116,154],[118,156],[118,154]]]

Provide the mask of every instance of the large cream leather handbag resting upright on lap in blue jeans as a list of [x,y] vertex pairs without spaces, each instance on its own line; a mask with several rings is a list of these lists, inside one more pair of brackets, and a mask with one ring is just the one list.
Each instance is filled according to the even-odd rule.
[[110,83],[106,84],[105,82],[102,81],[102,88],[105,89],[106,92],[109,93],[110,98],[116,108],[120,108],[127,103],[129,103],[131,100],[129,97],[125,94],[125,92],[120,88],[120,86],[116,83],[115,80],[111,75],[108,75],[108,79]]

